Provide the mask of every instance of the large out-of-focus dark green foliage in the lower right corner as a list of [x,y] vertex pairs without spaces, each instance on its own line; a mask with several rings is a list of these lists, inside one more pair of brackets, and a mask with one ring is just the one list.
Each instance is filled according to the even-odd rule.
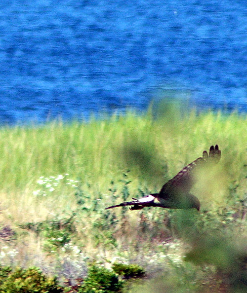
[[185,240],[192,248],[185,260],[200,266],[214,265],[231,292],[247,291],[246,236],[229,226],[220,229],[212,226],[204,231],[192,227],[189,235],[190,239]]

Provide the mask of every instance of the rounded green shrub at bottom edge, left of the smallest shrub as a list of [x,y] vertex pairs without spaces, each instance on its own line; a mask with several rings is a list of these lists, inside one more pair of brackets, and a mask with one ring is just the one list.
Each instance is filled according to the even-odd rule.
[[114,272],[92,265],[78,293],[121,293],[122,288],[123,281],[119,281],[118,276]]

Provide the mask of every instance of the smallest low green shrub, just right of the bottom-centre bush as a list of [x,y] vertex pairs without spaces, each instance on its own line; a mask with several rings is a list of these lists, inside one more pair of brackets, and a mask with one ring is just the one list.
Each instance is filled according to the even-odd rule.
[[138,264],[114,263],[112,269],[124,278],[139,278],[145,274],[144,268]]

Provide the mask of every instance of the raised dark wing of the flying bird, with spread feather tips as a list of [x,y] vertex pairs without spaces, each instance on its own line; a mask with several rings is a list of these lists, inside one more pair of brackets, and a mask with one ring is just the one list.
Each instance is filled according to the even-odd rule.
[[209,149],[209,154],[205,150],[203,152],[203,157],[199,157],[195,161],[185,166],[175,177],[162,186],[158,198],[170,200],[172,196],[188,194],[196,182],[196,169],[206,164],[217,164],[220,156],[221,151],[219,150],[218,145],[215,147],[211,146]]

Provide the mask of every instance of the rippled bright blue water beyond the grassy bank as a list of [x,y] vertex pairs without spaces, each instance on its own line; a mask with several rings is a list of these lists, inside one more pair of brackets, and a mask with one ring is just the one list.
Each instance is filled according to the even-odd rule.
[[1,1],[0,123],[161,97],[247,111],[246,1]]

